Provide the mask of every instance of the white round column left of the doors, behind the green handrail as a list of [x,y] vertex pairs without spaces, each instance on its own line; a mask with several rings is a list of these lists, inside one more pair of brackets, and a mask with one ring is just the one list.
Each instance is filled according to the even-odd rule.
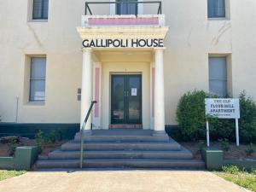
[[[84,123],[86,113],[90,108],[90,103],[92,101],[92,61],[91,61],[91,49],[83,49],[83,69],[82,69],[82,92],[81,92],[81,119],[80,128]],[[85,125],[84,130],[90,131],[91,125],[90,117]]]

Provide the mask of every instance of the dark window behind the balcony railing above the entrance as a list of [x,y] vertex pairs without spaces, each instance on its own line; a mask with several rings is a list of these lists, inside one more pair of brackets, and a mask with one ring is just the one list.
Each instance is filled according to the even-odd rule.
[[[116,0],[116,2],[137,2],[137,0]],[[117,3],[117,15],[137,15],[137,3]]]

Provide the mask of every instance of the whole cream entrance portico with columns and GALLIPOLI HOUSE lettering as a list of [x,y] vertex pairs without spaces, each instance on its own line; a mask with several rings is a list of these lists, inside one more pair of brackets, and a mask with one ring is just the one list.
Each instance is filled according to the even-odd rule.
[[[145,15],[141,16],[145,18]],[[165,133],[165,96],[164,96],[164,38],[168,27],[164,25],[162,15],[148,15],[148,19],[159,20],[152,26],[93,26],[93,16],[83,16],[82,26],[78,27],[83,45],[83,70],[81,84],[81,119],[82,125],[90,103],[97,104],[90,114],[85,131],[108,129],[109,127],[143,127],[154,130],[154,134]],[[104,16],[102,20],[123,20],[118,15]],[[96,25],[101,23],[97,17]],[[92,26],[88,26],[92,25]],[[114,75],[141,76],[141,90],[134,85],[124,83],[119,93],[119,103],[113,113]],[[124,86],[124,87],[123,87]],[[134,87],[133,87],[134,86]],[[137,94],[141,91],[141,101]],[[137,103],[130,100],[137,97]],[[138,103],[138,101],[140,103]],[[133,106],[130,106],[130,104]],[[141,106],[141,108],[139,108]],[[131,125],[129,114],[139,115]],[[113,116],[115,115],[115,120]],[[128,126],[129,125],[129,126]]]

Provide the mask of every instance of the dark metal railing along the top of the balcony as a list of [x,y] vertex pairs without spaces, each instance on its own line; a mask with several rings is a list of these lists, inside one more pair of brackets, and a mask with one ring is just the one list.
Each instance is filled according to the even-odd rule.
[[87,9],[90,13],[90,15],[92,15],[92,12],[90,10],[90,4],[119,4],[119,3],[134,3],[134,4],[147,4],[147,3],[157,3],[159,4],[158,7],[158,11],[157,11],[157,15],[161,15],[162,14],[162,2],[161,1],[153,1],[153,2],[135,2],[135,1],[127,1],[127,2],[85,2],[85,11],[84,14],[87,15]]

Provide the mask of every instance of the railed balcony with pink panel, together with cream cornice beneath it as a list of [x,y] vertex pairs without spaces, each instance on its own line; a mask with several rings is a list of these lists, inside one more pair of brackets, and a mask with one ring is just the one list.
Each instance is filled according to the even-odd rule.
[[[165,39],[161,1],[86,2],[77,31],[82,39]],[[160,40],[160,41],[161,41]]]

